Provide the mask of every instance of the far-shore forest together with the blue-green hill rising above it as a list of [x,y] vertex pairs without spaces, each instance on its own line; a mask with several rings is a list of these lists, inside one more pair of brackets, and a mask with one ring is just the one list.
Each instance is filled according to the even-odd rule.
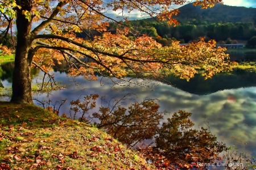
[[[129,23],[141,35],[150,35],[163,45],[170,45],[171,40],[188,43],[197,41],[199,37],[214,39],[218,44],[247,44],[256,36],[256,8],[217,4],[202,10],[200,6],[189,3],[179,11],[174,17],[180,22],[176,26],[159,23],[154,18],[131,20]],[[256,43],[247,45],[254,47]]]

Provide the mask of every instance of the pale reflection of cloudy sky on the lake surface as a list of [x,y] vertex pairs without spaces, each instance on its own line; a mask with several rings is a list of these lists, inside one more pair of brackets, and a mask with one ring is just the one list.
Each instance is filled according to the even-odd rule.
[[[242,151],[251,151],[256,155],[256,87],[237,88],[233,90],[222,90],[209,95],[195,95],[160,83],[154,90],[147,90],[142,87],[123,88],[110,87],[112,84],[101,86],[100,82],[85,81],[83,78],[76,78],[76,84],[67,81],[64,73],[55,73],[57,80],[66,84],[67,90],[54,91],[49,96],[53,101],[68,99],[60,112],[69,112],[69,102],[76,100],[81,94],[99,94],[105,96],[109,101],[113,97],[121,98],[128,93],[137,95],[137,101],[146,98],[159,99],[160,112],[166,110],[174,113],[181,110],[191,112],[192,121],[196,126],[204,126],[205,119],[209,121],[210,130],[216,134],[218,140],[223,140],[227,145],[240,148]],[[35,96],[39,100],[46,99],[45,95]],[[133,101],[127,100],[125,104],[130,105]],[[101,100],[96,105],[101,105]],[[92,111],[94,112],[94,111]],[[166,114],[165,119],[172,114]]]

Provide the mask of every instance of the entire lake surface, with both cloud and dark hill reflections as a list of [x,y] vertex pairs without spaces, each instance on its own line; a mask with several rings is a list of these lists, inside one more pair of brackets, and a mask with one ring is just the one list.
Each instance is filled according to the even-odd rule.
[[[232,55],[232,54],[231,54]],[[246,56],[246,53],[239,55]],[[238,56],[239,56],[238,55]],[[250,59],[256,58],[256,53]],[[237,54],[234,55],[237,57]],[[244,58],[238,57],[239,59]],[[232,57],[232,56],[231,56]],[[236,60],[236,59],[234,59]],[[1,82],[4,87],[11,86],[11,78],[7,72],[11,73],[12,66],[2,65]],[[0,70],[1,70],[0,69]],[[43,73],[34,71],[36,75],[33,82],[40,82]],[[158,99],[160,111],[167,111],[170,114],[164,118],[171,117],[172,113],[179,110],[191,112],[191,120],[195,123],[195,128],[207,127],[205,122],[209,122],[210,131],[217,136],[218,141],[223,141],[227,146],[240,148],[251,156],[256,156],[256,74],[245,71],[234,71],[232,74],[218,74],[212,79],[204,80],[201,76],[196,76],[190,82],[177,78],[168,78],[167,82],[151,81],[154,86],[150,89],[135,86],[125,88],[114,86],[111,81],[98,77],[98,81],[90,82],[81,77],[67,79],[67,74],[55,71],[55,78],[62,82],[66,89],[53,91],[49,99],[60,101],[67,99],[60,108],[60,113],[69,115],[69,102],[78,99],[81,95],[99,94],[104,96],[105,101],[110,101],[113,97],[121,97],[132,93],[134,100]],[[38,100],[47,100],[46,94],[34,96]],[[1,99],[0,99],[1,100]],[[2,100],[9,100],[7,98]],[[134,100],[126,100],[129,105]],[[35,101],[36,105],[40,105]],[[101,100],[97,100],[100,106]]]

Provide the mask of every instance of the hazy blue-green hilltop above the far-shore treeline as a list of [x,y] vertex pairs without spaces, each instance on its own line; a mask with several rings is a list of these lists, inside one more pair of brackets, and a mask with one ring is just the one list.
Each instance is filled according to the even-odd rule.
[[193,6],[192,3],[189,3],[180,7],[179,10],[180,13],[175,18],[181,23],[193,19],[210,23],[256,23],[256,8],[217,4],[213,8],[201,9],[200,6]]

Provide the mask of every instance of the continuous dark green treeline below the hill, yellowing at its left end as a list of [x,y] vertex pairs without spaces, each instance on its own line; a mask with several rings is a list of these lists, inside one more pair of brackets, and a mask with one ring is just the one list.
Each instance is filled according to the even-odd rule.
[[133,20],[129,23],[131,27],[141,34],[159,39],[177,39],[181,42],[197,40],[199,37],[207,37],[216,41],[227,39],[249,40],[256,35],[256,28],[253,23],[210,23],[207,22],[188,22],[174,27],[164,23],[151,22],[147,20]]

